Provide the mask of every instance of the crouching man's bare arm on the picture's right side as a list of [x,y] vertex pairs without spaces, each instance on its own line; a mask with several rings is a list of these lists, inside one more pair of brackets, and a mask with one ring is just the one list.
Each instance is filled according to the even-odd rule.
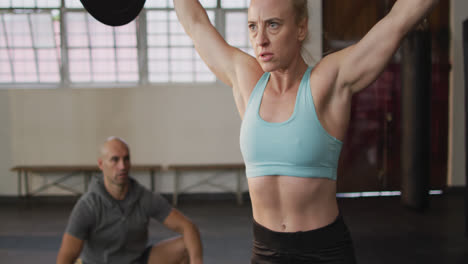
[[163,224],[182,235],[190,257],[190,264],[203,263],[203,247],[198,228],[177,209],[172,209]]

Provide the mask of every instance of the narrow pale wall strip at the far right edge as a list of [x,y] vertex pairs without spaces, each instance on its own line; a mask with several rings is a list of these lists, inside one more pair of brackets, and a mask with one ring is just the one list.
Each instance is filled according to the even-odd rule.
[[448,185],[465,185],[465,86],[463,71],[462,22],[468,18],[468,1],[451,3],[451,61],[449,97]]

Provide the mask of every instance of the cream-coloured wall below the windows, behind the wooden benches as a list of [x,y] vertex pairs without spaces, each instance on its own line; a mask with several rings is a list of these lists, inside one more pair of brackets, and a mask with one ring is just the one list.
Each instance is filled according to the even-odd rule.
[[11,167],[95,164],[111,135],[128,141],[134,164],[242,163],[232,97],[221,84],[0,91],[0,195],[16,195]]

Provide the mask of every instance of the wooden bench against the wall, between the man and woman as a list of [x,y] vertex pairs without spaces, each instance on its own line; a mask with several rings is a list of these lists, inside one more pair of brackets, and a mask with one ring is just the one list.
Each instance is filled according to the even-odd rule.
[[[186,192],[189,189],[192,189],[194,187],[200,186],[200,185],[210,185],[213,187],[216,187],[218,189],[228,191],[228,192],[233,192],[236,195],[237,203],[240,205],[242,204],[242,178],[244,177],[244,170],[245,170],[245,165],[244,164],[197,164],[197,165],[184,165],[184,164],[178,164],[178,165],[169,165],[167,167],[167,170],[169,171],[174,171],[174,190],[172,193],[172,204],[174,206],[177,205],[178,201],[178,195],[180,193]],[[195,183],[184,187],[183,189],[180,186],[180,178],[182,176],[182,173],[184,172],[203,172],[203,171],[218,171],[218,172],[229,172],[229,171],[234,171],[236,172],[236,187],[233,190],[232,188],[229,188],[227,186],[221,185],[221,184],[216,184],[213,182],[213,180],[218,176],[218,174],[214,174],[208,178],[201,179],[199,181],[196,181]]]

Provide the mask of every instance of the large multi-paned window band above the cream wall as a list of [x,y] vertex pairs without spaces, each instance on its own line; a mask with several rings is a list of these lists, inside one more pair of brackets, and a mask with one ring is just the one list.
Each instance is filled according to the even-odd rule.
[[[140,17],[120,27],[101,24],[79,0],[63,2],[0,0],[1,87],[216,81],[178,22],[172,0],[146,1]],[[252,54],[250,1],[200,2],[227,42]]]

